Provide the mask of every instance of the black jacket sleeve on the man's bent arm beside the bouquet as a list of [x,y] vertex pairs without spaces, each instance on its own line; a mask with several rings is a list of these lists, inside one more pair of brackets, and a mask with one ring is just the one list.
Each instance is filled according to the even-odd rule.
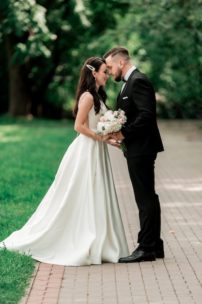
[[[155,92],[149,80],[139,77],[132,84],[132,103],[136,113],[130,123],[122,129],[125,138],[146,131],[156,116]],[[131,113],[133,115],[133,113]],[[126,115],[127,116],[127,115]]]

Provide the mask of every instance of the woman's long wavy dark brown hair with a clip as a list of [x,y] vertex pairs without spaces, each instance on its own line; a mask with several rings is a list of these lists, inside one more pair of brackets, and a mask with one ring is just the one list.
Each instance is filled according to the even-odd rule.
[[93,95],[95,114],[98,114],[100,112],[100,107],[101,107],[100,99],[102,99],[104,104],[106,104],[107,94],[105,90],[103,89],[102,86],[100,86],[98,92],[96,91],[95,78],[93,77],[92,69],[86,66],[86,65],[90,65],[93,68],[95,68],[96,72],[98,72],[103,63],[105,63],[105,60],[98,57],[91,57],[87,59],[86,62],[84,63],[83,68],[81,69],[80,72],[80,78],[78,80],[76,103],[73,109],[73,113],[75,115],[77,115],[78,112],[79,99],[85,91],[89,91]]

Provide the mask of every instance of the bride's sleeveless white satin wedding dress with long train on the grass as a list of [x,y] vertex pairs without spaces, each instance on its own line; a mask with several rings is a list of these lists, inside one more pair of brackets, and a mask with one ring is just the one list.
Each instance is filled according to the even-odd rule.
[[[100,113],[106,110],[103,104]],[[99,118],[93,107],[91,130],[96,131]],[[80,134],[34,214],[3,246],[64,266],[115,263],[129,255],[107,143]]]

